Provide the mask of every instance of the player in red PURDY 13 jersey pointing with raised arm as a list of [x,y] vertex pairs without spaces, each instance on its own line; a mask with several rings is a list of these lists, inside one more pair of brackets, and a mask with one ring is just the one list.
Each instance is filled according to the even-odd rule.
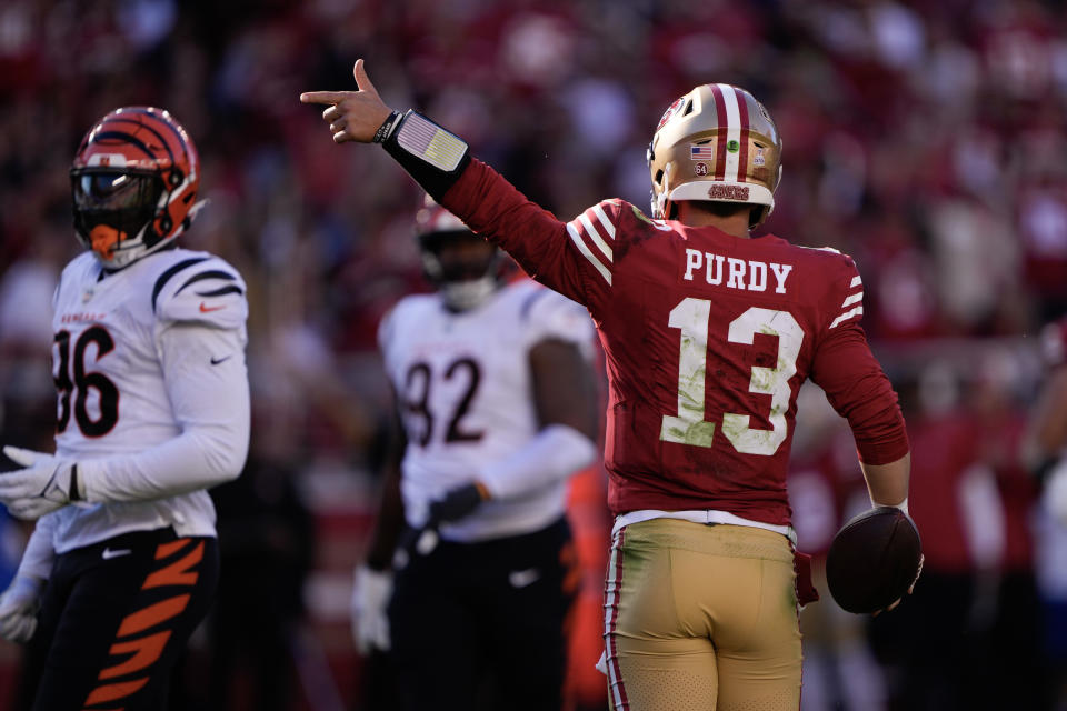
[[862,280],[834,250],[751,238],[781,140],[729,84],[668,108],[649,146],[652,214],[606,200],[570,222],[527,200],[428,118],[359,91],[333,141],[380,142],[431,196],[542,283],[586,306],[609,381],[616,515],[605,588],[615,709],[797,709],[800,631],[786,469],[810,378],[848,419],[870,497],[907,507],[904,418],[859,326]]

